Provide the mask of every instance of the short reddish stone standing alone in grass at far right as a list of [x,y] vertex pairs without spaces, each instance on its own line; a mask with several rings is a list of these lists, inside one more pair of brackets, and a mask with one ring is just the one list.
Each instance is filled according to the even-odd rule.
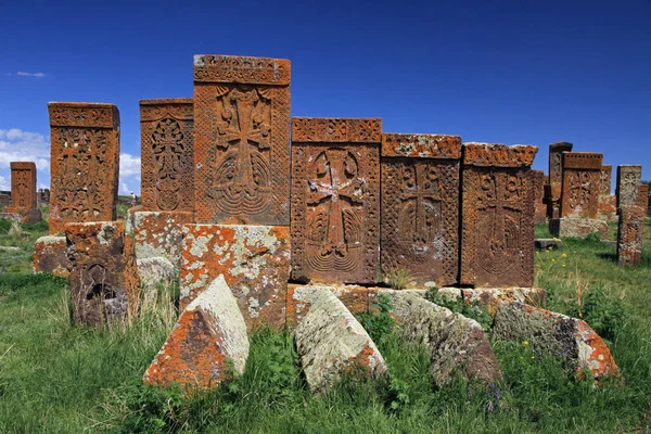
[[620,207],[617,263],[621,266],[634,266],[642,260],[642,231],[646,216],[646,209],[641,206],[625,205]]

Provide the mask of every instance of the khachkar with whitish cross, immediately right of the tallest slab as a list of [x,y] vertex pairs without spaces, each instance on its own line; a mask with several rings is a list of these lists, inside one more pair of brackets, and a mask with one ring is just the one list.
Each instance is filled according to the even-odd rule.
[[380,257],[378,118],[292,119],[292,277],[373,283]]

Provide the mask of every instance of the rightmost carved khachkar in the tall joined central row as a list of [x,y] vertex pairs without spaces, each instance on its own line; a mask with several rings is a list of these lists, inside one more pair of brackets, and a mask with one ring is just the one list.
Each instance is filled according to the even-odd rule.
[[461,283],[532,286],[537,146],[464,143]]

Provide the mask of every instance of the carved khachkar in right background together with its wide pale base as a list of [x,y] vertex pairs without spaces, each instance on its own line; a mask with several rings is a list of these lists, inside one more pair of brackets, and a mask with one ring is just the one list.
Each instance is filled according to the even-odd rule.
[[593,152],[563,153],[561,216],[550,220],[556,237],[608,235],[608,224],[598,219],[603,155]]

